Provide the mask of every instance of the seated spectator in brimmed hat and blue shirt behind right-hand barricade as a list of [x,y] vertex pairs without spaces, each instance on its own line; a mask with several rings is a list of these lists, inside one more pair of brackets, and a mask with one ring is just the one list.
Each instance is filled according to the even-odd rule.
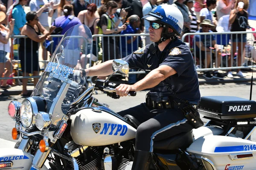
[[[207,33],[212,32],[211,29],[214,27],[211,20],[203,20],[200,25],[202,28],[196,33]],[[218,68],[221,65],[221,49],[218,49],[218,44],[216,44],[215,35],[195,35],[195,57],[199,60],[201,59],[204,64],[204,68],[211,68],[212,59],[215,59],[215,67]],[[215,54],[217,53],[217,54]],[[217,57],[216,57],[217,56]],[[211,75],[210,71],[205,71],[203,77],[206,79],[223,79],[224,76],[218,71],[214,71]]]

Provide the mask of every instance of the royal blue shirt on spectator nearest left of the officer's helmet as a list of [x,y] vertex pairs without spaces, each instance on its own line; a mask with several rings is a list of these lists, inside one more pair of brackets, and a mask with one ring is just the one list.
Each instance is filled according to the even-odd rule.
[[[123,30],[121,32],[121,34],[136,34],[137,33],[137,30],[139,28],[133,28],[131,26],[131,24],[129,24],[126,28],[126,30]],[[125,37],[121,37],[121,42],[122,42],[122,57],[126,57],[126,43],[127,43],[127,40],[131,40],[131,36],[128,36],[127,39]],[[138,41],[139,40],[139,41]],[[140,42],[141,41],[141,38],[140,36],[138,36],[138,38],[136,38],[134,40],[134,42],[132,42],[131,44],[128,44],[127,43],[127,55],[131,54],[133,51],[137,50],[138,49],[138,45],[137,45],[137,42]],[[133,46],[132,46],[133,45]]]

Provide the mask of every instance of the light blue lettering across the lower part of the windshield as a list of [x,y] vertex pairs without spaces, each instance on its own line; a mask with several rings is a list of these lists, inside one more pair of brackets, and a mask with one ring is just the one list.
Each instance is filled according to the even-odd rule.
[[62,64],[59,65],[55,62],[49,62],[47,68],[45,69],[46,72],[55,73],[65,78],[67,78],[70,74],[73,74],[73,70],[73,68]]

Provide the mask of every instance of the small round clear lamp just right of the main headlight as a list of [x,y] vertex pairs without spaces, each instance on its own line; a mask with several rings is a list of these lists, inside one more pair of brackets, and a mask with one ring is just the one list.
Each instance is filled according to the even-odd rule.
[[39,112],[35,116],[35,125],[39,130],[48,129],[51,126],[51,117],[48,113]]

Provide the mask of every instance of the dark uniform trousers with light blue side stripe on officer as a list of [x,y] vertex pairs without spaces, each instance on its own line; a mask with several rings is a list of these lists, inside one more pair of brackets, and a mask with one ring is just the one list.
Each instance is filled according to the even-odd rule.
[[142,103],[118,114],[120,116],[129,114],[141,123],[136,131],[136,150],[153,152],[155,141],[193,129],[177,106],[174,106],[174,109],[150,110],[145,103]]

